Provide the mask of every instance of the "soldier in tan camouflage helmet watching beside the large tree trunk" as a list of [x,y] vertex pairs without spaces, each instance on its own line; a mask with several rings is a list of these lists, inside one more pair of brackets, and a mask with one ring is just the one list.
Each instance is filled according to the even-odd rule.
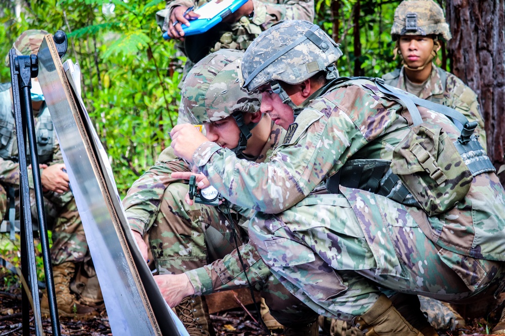
[[448,42],[451,38],[440,6],[433,0],[402,1],[394,12],[391,37],[396,41],[395,57],[401,58],[402,66],[382,77],[386,84],[452,107],[470,121],[477,121],[475,133],[486,149],[486,132],[477,95],[458,77],[433,62],[440,49],[440,40]]

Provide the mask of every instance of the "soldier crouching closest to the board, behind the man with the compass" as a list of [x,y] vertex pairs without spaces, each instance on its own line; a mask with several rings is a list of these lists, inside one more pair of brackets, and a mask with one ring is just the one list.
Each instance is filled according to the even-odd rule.
[[[247,160],[244,162],[260,163],[282,141],[284,132],[260,112],[260,95],[248,95],[241,90],[238,65],[242,55],[242,51],[222,49],[200,60],[184,81],[182,102],[191,122],[205,125],[211,141],[230,148]],[[272,276],[256,250],[247,243],[247,226],[243,226],[250,217],[249,209],[237,207],[229,213],[225,205],[185,205],[183,199],[188,186],[172,178],[171,173],[190,171],[184,161],[173,156],[171,149],[165,150],[157,164],[132,185],[123,200],[137,244],[147,259],[142,236],[148,235],[160,273],[155,279],[162,292],[177,294],[169,304],[175,306],[189,333],[213,333],[202,295],[247,287],[233,241],[233,231],[236,231],[244,266],[254,269],[248,280],[261,291],[272,308],[272,315],[286,326],[286,334],[316,335],[317,314]],[[192,291],[186,294],[185,287],[178,287],[179,282],[166,282],[165,275],[180,275],[190,282]],[[177,279],[177,276],[168,278]]]

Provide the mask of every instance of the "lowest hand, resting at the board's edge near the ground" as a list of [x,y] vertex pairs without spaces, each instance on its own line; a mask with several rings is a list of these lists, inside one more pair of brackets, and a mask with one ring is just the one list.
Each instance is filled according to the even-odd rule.
[[171,308],[181,303],[184,298],[194,294],[193,285],[184,273],[177,275],[166,274],[154,278],[161,295]]

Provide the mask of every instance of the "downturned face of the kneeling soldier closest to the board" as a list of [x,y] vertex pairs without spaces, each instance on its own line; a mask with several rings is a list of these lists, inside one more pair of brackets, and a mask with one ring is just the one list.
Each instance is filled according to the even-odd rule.
[[[244,121],[248,123],[250,121],[249,113],[244,113]],[[240,129],[237,126],[237,122],[230,115],[224,119],[212,122],[205,125],[206,137],[212,142],[215,142],[223,148],[235,148],[238,145],[238,140],[240,138]]]

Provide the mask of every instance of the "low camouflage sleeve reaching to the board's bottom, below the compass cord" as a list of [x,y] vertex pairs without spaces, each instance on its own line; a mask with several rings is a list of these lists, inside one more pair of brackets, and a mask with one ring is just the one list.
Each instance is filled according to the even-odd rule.
[[246,275],[253,287],[265,282],[270,275],[270,270],[256,249],[250,244],[244,244],[239,250],[246,272],[240,263],[236,249],[223,259],[185,272],[194,287],[196,296],[247,287]]

